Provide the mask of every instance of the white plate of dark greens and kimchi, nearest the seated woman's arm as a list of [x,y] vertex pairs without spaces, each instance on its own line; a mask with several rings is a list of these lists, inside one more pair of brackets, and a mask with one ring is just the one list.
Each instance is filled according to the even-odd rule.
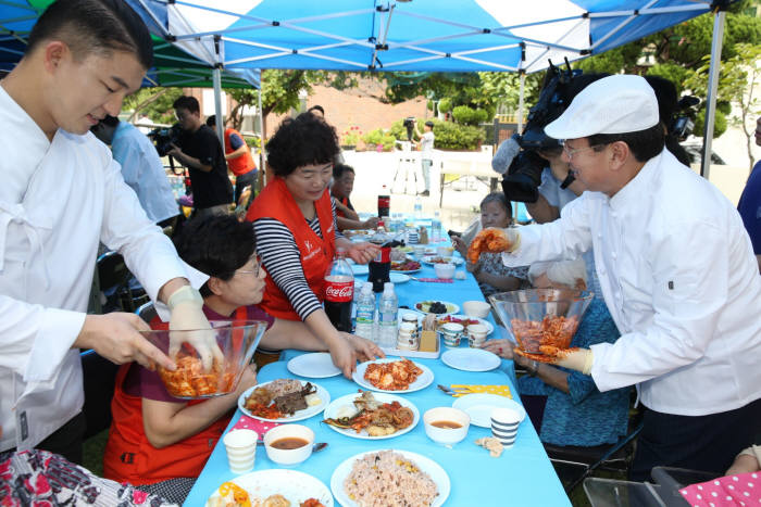
[[276,379],[253,385],[238,397],[249,417],[271,422],[296,422],[316,416],[330,403],[330,393],[312,382]]

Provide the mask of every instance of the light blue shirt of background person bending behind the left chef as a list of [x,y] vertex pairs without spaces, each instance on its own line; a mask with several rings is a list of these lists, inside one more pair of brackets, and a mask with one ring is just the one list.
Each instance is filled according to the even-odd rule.
[[150,139],[126,122],[120,122],[111,150],[122,166],[124,181],[135,191],[148,218],[159,223],[179,215],[164,165]]

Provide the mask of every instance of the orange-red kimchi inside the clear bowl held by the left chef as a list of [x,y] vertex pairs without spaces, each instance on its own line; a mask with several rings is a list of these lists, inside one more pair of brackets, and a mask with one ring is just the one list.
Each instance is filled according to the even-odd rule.
[[176,397],[209,396],[217,392],[226,393],[233,390],[235,368],[230,365],[220,365],[214,360],[210,371],[203,371],[201,359],[184,356],[176,362],[177,369],[170,371],[159,368],[159,376],[166,391]]

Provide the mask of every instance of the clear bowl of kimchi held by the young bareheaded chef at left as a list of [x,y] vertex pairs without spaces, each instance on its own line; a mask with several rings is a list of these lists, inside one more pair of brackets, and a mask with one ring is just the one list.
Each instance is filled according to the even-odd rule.
[[[223,359],[214,359],[209,371],[204,371],[201,356],[190,344],[191,333],[202,331],[141,331],[161,352],[170,356],[177,369],[174,371],[158,367],[166,391],[182,400],[201,400],[228,394],[238,385],[244,368],[251,363],[253,352],[259,345],[266,322],[263,320],[212,320],[216,344],[222,351]],[[170,355],[170,341],[179,344],[179,350]]]

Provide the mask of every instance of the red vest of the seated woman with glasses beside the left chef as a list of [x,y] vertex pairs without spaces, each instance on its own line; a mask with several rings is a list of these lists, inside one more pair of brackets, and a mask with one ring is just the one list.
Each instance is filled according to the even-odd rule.
[[[245,306],[235,312],[235,320],[246,320],[247,316],[248,309]],[[151,321],[151,328],[169,329],[169,324],[157,317]],[[103,477],[132,484],[153,484],[179,477],[198,477],[229,418],[221,417],[209,428],[175,444],[163,448],[153,447],[142,427],[142,398],[129,395],[122,389],[133,365],[122,365],[116,373],[114,397],[111,401],[113,421],[103,454]],[[203,402],[189,401],[188,406]]]

